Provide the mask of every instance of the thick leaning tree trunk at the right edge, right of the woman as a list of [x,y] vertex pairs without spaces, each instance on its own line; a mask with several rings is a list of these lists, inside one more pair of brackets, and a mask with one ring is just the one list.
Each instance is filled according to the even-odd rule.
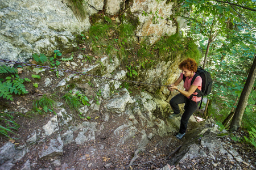
[[243,113],[245,112],[245,108],[247,106],[247,101],[248,101],[250,92],[253,88],[255,78],[256,78],[256,57],[254,56],[253,65],[250,68],[250,71],[249,71],[249,74],[247,76],[247,80],[245,83],[245,87],[243,87],[242,94],[238,101],[237,108],[234,113],[232,122],[230,124],[230,130],[232,130],[232,131],[236,131],[241,126]]

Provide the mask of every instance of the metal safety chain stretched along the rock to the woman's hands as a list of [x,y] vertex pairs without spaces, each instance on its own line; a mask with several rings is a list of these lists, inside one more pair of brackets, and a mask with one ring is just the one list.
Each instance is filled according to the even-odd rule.
[[150,86],[168,87],[167,85],[163,85],[163,84],[153,84],[153,83],[144,83],[144,82],[137,82],[137,81],[131,81],[131,80],[108,78],[106,76],[87,74],[87,73],[77,72],[77,71],[73,71],[73,70],[57,69],[56,67],[51,68],[51,67],[48,67],[48,66],[40,66],[40,65],[35,65],[35,64],[29,64],[29,63],[26,63],[26,62],[17,62],[17,61],[12,61],[12,60],[9,60],[9,59],[0,59],[0,62],[6,62],[6,63],[10,63],[10,64],[18,64],[18,65],[21,65],[21,66],[31,66],[31,67],[35,67],[35,68],[39,68],[39,69],[45,69],[45,70],[51,70],[51,71],[62,71],[64,73],[80,74],[80,75],[85,75],[85,76],[91,76],[91,77],[94,77],[94,78],[115,80],[115,81],[119,81],[119,82],[128,82],[128,83],[134,83],[134,84],[144,84],[144,85],[150,85]]

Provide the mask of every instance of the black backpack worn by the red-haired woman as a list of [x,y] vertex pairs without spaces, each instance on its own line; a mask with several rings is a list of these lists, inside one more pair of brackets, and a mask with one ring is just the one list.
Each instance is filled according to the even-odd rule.
[[[204,69],[202,69],[201,66],[197,67],[197,71],[195,76],[193,76],[193,79],[191,80],[191,85],[194,83],[197,76],[201,76],[202,78],[202,90],[196,89],[195,92],[197,92],[197,95],[191,95],[190,99],[192,99],[193,96],[202,97],[201,99],[201,105],[203,101],[203,96],[209,95],[212,91],[212,77],[210,76],[210,73]],[[183,76],[183,81],[185,82],[186,77]]]

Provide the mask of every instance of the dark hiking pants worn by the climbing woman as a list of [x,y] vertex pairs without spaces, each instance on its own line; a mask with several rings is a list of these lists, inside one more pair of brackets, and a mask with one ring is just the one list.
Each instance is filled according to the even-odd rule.
[[174,96],[170,100],[170,105],[171,105],[172,109],[174,110],[174,114],[179,114],[180,113],[179,104],[185,103],[185,106],[184,106],[185,111],[180,120],[179,133],[183,134],[187,130],[188,120],[191,117],[191,115],[196,111],[197,105],[199,104],[199,102],[200,101],[198,101],[198,102],[192,101],[192,100],[188,99],[188,97],[185,97],[181,94]]

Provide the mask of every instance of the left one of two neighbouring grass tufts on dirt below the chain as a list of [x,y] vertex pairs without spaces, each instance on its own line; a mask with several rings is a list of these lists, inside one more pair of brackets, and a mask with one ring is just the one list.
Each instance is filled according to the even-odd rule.
[[57,96],[55,94],[44,94],[40,99],[33,102],[33,111],[39,114],[53,112],[53,108],[56,106],[56,99]]

